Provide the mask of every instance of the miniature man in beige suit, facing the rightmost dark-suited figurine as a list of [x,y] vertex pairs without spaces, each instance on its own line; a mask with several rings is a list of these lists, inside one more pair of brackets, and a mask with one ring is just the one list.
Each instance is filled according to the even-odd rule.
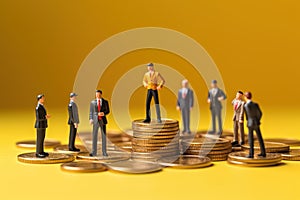
[[[234,140],[232,142],[233,147],[238,147],[245,144],[245,132],[244,132],[244,105],[243,92],[238,91],[235,99],[232,101],[233,105],[233,135]],[[241,136],[239,143],[239,134]]]

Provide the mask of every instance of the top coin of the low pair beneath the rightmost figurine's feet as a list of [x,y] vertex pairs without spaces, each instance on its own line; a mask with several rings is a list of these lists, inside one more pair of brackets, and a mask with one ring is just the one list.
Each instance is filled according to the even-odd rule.
[[279,153],[267,153],[266,157],[259,157],[254,155],[254,158],[247,158],[247,152],[233,152],[228,155],[231,160],[244,163],[273,163],[280,162],[282,157]]

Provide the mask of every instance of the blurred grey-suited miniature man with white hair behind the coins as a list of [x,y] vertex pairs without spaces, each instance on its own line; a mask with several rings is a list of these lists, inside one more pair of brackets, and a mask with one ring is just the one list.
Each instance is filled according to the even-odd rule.
[[181,111],[183,121],[182,133],[191,133],[190,130],[190,110],[194,105],[194,92],[189,88],[188,80],[182,81],[182,88],[178,91],[177,110]]

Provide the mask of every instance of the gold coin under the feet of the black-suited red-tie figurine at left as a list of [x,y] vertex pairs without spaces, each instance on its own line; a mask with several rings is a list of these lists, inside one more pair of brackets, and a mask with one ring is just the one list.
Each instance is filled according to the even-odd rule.
[[126,152],[108,152],[108,156],[90,156],[89,153],[79,153],[76,156],[77,160],[93,161],[104,164],[120,160],[128,160],[129,158],[130,154]]

